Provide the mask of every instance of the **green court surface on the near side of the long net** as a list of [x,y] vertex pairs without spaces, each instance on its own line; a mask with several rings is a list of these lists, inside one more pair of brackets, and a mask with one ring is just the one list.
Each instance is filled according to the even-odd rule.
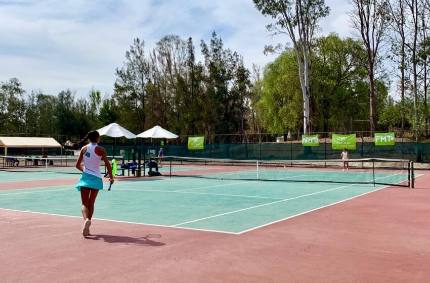
[[[4,173],[0,172],[1,179]],[[241,233],[382,187],[188,177],[125,179],[116,181],[112,191],[100,192],[94,218]],[[73,185],[0,191],[0,208],[81,216],[80,195]]]

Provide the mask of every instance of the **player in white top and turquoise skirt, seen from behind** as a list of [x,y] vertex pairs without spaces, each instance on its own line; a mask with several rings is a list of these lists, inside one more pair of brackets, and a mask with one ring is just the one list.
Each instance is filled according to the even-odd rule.
[[[96,202],[99,190],[103,190],[102,177],[100,175],[100,160],[103,159],[109,173],[109,181],[113,183],[112,168],[106,156],[104,148],[97,144],[100,141],[98,131],[90,131],[78,144],[83,145],[90,139],[90,144],[84,146],[79,153],[76,161],[76,168],[82,172],[79,181],[76,184],[82,200],[83,228],[82,235],[87,237],[90,234],[91,217],[94,213],[94,203]],[[83,160],[83,167],[82,162]]]

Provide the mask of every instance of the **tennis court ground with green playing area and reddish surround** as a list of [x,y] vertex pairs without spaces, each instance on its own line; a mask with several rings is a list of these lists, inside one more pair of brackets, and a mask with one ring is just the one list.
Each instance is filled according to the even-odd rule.
[[[73,168],[0,170],[0,222],[14,227],[2,233],[0,240],[9,243],[2,253],[21,264],[15,268],[15,261],[0,261],[6,278],[41,281],[58,278],[62,270],[59,281],[73,281],[76,272],[96,281],[126,276],[155,282],[247,277],[279,282],[290,272],[296,276],[292,280],[315,281],[324,274],[330,278],[325,281],[372,281],[372,266],[380,274],[404,257],[415,267],[397,266],[401,278],[423,278],[411,270],[422,268],[416,252],[430,251],[422,226],[428,194],[377,183],[408,186],[407,167],[372,170],[360,161],[342,171],[327,161],[324,166],[311,161],[263,162],[255,169],[229,162],[164,158],[160,177],[117,177],[112,190],[97,198],[87,238],[80,234],[80,195],[74,188],[79,175],[71,174]],[[252,179],[257,174],[271,180]],[[428,186],[425,171],[414,176],[418,188]],[[411,244],[412,235],[417,242]],[[82,255],[96,262],[71,264]],[[54,269],[43,267],[52,264]],[[357,268],[368,271],[348,275]],[[38,280],[40,269],[44,274]]]

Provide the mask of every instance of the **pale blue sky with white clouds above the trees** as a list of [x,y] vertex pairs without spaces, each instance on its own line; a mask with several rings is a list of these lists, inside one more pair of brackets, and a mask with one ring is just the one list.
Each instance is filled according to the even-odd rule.
[[[320,35],[352,36],[347,0],[326,4]],[[191,36],[202,60],[200,40],[209,42],[213,31],[246,67],[264,67],[276,57],[264,55],[264,46],[289,41],[266,31],[271,22],[252,0],[0,0],[0,81],[17,77],[27,92],[52,95],[70,88],[81,97],[92,87],[112,94],[134,38],[149,54],[164,35]]]

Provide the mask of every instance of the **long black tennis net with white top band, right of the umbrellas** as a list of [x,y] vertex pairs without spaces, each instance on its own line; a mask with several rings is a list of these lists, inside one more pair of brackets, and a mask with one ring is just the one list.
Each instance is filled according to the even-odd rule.
[[[158,164],[160,157],[152,158]],[[256,161],[164,156],[167,176],[296,182],[370,183],[413,187],[413,162],[397,159]]]

